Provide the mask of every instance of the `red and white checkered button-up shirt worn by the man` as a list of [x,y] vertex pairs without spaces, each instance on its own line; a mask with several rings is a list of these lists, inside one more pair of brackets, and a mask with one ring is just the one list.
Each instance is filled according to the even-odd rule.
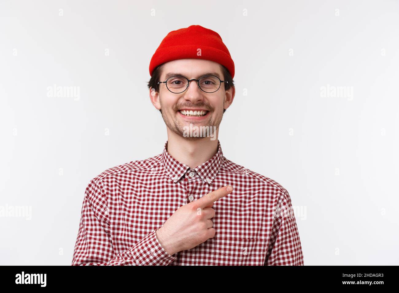
[[[279,183],[217,153],[190,169],[161,154],[110,168],[85,191],[71,265],[303,265],[290,196]],[[183,205],[231,185],[213,203],[216,234],[169,255],[156,237]]]

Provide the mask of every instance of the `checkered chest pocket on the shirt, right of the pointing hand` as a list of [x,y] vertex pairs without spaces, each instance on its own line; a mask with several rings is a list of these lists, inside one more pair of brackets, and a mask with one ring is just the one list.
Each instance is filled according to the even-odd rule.
[[267,241],[263,238],[215,237],[213,265],[264,265]]

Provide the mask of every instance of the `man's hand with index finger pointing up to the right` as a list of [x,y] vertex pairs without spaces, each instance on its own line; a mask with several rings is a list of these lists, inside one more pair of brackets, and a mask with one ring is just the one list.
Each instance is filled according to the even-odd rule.
[[196,201],[181,206],[156,231],[162,247],[170,254],[196,247],[215,236],[211,218],[215,215],[213,203],[228,195],[233,187],[225,186]]

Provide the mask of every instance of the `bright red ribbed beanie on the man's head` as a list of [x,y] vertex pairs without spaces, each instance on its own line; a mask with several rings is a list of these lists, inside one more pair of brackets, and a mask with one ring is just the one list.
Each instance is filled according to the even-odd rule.
[[[199,52],[201,55],[198,56]],[[189,26],[168,33],[152,55],[150,76],[158,65],[186,58],[215,61],[227,68],[231,78],[234,77],[234,62],[220,35],[202,26]]]

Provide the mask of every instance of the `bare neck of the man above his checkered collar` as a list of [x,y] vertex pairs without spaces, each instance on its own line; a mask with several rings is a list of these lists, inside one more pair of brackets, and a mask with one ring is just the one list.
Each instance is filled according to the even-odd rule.
[[217,140],[219,128],[215,133],[215,140],[209,137],[193,140],[185,138],[168,130],[168,153],[180,163],[194,169],[211,159],[217,153]]

